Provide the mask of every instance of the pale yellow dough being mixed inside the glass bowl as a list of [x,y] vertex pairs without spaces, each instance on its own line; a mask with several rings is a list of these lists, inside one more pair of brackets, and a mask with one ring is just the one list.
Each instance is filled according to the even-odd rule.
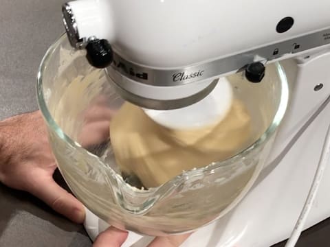
[[159,126],[141,108],[125,103],[111,120],[110,138],[121,171],[135,174],[149,188],[233,156],[245,147],[250,127],[250,116],[238,100],[220,123],[184,131]]

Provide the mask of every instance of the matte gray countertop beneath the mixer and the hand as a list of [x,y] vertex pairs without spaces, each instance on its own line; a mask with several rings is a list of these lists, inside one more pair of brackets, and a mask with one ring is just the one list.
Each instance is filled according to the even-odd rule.
[[[0,120],[36,110],[39,63],[63,32],[64,0],[1,0]],[[61,175],[58,183],[64,186]],[[0,246],[91,246],[83,226],[58,215],[43,202],[0,184]],[[306,231],[297,246],[329,246],[330,220]],[[284,246],[283,243],[276,247]],[[212,247],[212,246],[210,246]]]

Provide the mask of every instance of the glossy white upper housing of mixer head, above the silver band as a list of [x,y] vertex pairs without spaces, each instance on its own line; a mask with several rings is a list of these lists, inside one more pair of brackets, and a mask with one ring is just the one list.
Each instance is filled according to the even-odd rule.
[[[80,38],[105,38],[127,60],[163,69],[232,56],[330,27],[327,0],[313,4],[299,0],[79,0],[69,4]],[[292,28],[276,32],[278,22],[287,16],[294,19]]]

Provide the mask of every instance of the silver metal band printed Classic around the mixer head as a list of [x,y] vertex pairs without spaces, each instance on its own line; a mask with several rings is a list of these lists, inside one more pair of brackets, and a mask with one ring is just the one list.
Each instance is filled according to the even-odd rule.
[[281,43],[267,45],[234,56],[180,69],[166,70],[144,67],[125,60],[115,50],[113,51],[113,62],[110,66],[136,82],[153,86],[177,86],[197,80],[205,80],[225,73],[236,72],[253,62],[265,63],[286,54],[296,54],[328,44],[330,44],[330,27],[325,30],[285,40]]

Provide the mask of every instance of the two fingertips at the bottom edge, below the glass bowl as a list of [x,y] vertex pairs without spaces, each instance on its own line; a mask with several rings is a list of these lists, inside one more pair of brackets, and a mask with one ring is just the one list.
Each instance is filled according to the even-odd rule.
[[[191,233],[172,235],[168,237],[155,237],[147,247],[179,247]],[[98,235],[93,247],[120,247],[126,241],[128,233],[113,226]]]

